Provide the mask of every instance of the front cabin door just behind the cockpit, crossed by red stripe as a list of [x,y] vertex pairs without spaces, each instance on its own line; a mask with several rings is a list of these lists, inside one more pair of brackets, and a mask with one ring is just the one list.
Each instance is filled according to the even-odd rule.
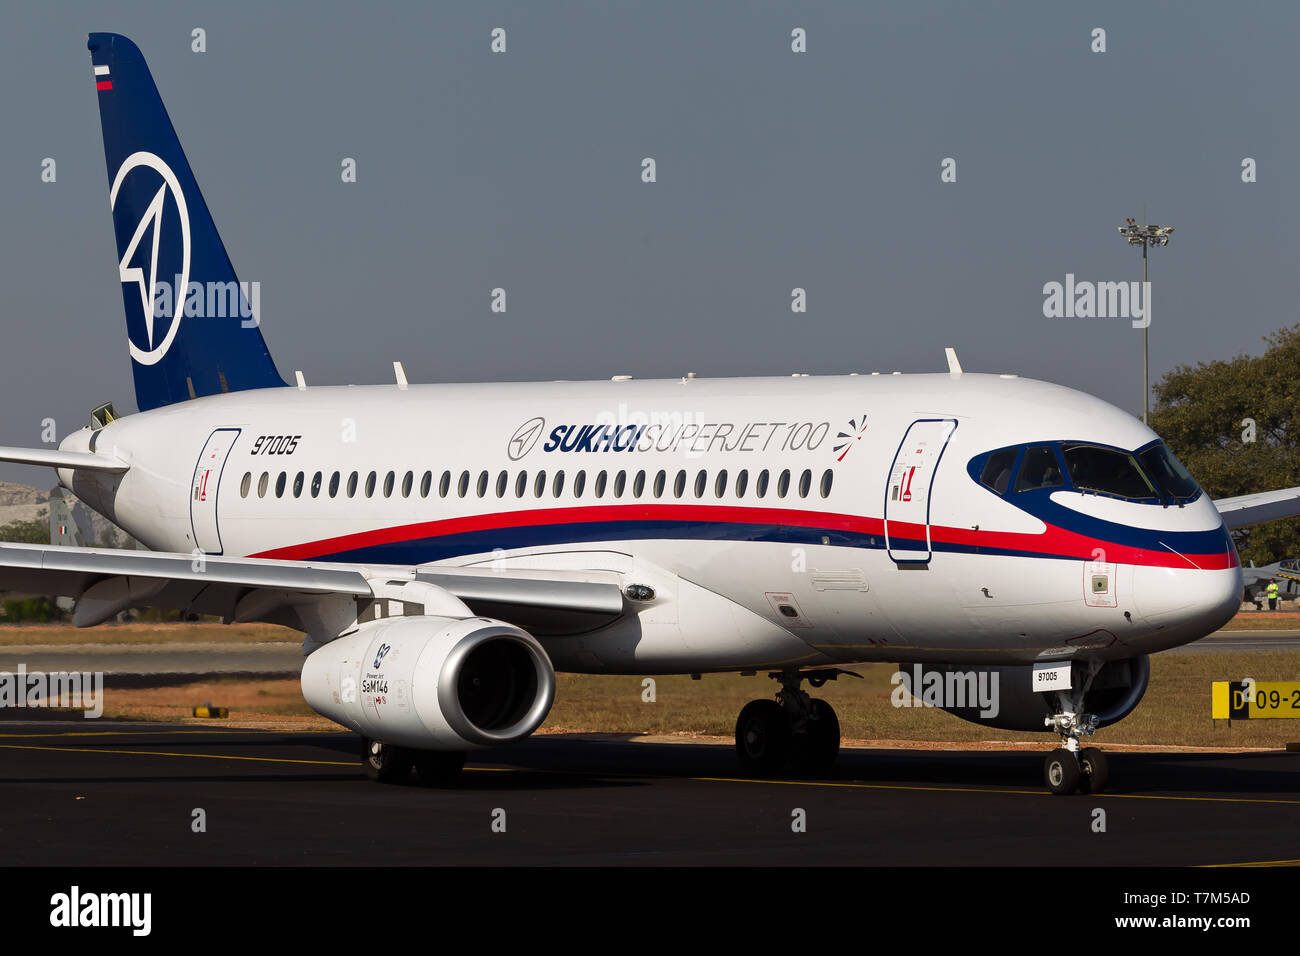
[[885,549],[898,563],[926,563],[930,540],[930,493],[954,419],[920,419],[904,434],[885,485]]

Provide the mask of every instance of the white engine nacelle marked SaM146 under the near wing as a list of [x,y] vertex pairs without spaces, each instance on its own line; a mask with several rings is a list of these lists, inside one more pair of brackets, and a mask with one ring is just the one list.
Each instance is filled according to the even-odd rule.
[[467,750],[526,737],[555,700],[555,669],[525,631],[488,618],[385,618],[303,662],[303,697],[367,737]]

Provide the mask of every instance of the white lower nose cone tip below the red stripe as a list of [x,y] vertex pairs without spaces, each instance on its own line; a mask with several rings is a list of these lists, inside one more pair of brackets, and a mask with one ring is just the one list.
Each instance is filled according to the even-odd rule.
[[[1150,567],[1134,570],[1134,602],[1144,622],[1175,643],[1213,633],[1242,604],[1242,568]],[[1164,643],[1164,641],[1162,641]]]

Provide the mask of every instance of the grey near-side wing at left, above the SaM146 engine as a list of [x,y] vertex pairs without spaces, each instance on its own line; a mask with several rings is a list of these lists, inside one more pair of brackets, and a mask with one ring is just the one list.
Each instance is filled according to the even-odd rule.
[[[367,613],[491,614],[550,633],[592,630],[624,613],[619,576],[599,570],[502,572],[21,544],[0,544],[0,589],[77,598],[78,627],[127,607],[169,607],[228,623],[269,620],[316,640],[333,639]],[[376,611],[384,601],[400,610]]]

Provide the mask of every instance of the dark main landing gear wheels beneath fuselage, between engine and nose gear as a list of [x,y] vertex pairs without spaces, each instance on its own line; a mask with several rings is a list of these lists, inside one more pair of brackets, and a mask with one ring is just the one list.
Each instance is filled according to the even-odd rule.
[[845,670],[768,674],[781,682],[776,700],[754,700],[736,721],[736,754],[745,773],[775,777],[786,766],[801,777],[826,774],[840,752],[840,721],[824,700],[814,700],[800,688],[803,680],[822,687]]

